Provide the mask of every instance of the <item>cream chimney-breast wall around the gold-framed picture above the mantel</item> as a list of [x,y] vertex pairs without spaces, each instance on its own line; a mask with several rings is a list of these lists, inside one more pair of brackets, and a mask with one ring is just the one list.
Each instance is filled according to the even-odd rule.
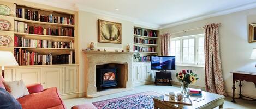
[[[127,44],[133,49],[133,22],[119,20],[104,15],[93,14],[90,12],[79,11],[79,93],[85,92],[85,80],[84,75],[84,53],[82,49],[86,49],[93,42],[96,46],[96,50],[108,51],[126,51]],[[122,23],[122,44],[111,44],[111,43],[99,43],[98,42],[98,19]],[[114,57],[113,57],[114,58]]]

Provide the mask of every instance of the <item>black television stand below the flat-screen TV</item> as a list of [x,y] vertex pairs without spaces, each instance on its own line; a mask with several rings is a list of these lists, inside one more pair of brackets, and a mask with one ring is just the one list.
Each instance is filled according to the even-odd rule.
[[156,78],[154,80],[154,85],[168,84],[168,85],[172,86],[171,82],[172,82],[171,71],[160,70],[160,71],[156,72]]

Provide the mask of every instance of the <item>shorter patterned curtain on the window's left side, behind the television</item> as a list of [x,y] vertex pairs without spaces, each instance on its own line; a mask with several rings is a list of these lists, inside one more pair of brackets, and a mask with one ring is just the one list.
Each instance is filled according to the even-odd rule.
[[170,40],[171,40],[170,37],[171,37],[171,35],[169,33],[160,35],[160,49],[161,49],[162,56],[169,55]]

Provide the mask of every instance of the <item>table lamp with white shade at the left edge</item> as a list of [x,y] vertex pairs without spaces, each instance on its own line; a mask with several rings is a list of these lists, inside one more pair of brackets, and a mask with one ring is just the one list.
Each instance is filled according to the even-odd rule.
[[13,53],[9,51],[0,51],[0,66],[2,66],[2,76],[4,78],[4,66],[19,66]]

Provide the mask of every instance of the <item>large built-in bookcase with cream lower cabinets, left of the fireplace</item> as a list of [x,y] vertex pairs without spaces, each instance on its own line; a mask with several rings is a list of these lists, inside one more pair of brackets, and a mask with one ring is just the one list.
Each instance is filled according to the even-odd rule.
[[0,49],[13,52],[19,63],[5,68],[5,79],[39,82],[44,88],[56,85],[62,97],[78,96],[78,12],[27,1],[0,2],[11,9],[9,15],[0,15],[10,22],[9,30],[0,30],[10,43]]

